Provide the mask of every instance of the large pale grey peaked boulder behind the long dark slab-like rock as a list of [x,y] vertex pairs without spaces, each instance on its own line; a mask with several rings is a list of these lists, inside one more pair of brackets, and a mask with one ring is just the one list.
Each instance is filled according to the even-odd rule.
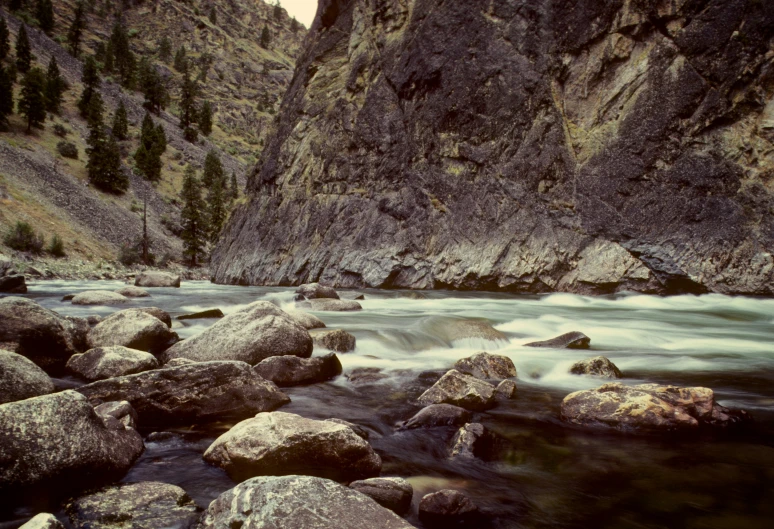
[[167,361],[188,358],[239,360],[255,365],[270,356],[309,358],[312,338],[301,325],[268,301],[256,301],[229,314],[201,334],[184,340],[165,353]]

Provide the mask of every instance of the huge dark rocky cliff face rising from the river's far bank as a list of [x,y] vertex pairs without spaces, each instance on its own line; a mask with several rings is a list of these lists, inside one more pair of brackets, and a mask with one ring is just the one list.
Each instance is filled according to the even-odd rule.
[[760,0],[321,0],[226,283],[774,293]]

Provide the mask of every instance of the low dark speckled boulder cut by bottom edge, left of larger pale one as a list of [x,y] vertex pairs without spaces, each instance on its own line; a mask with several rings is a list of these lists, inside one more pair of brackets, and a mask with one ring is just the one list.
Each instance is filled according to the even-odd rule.
[[65,512],[83,529],[190,529],[199,517],[183,489],[157,481],[105,487],[71,501]]

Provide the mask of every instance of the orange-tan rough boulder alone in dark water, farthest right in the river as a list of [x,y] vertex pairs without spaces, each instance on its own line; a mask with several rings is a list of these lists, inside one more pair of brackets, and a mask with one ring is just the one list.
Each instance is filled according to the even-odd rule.
[[631,430],[694,430],[700,426],[726,427],[750,416],[715,402],[709,388],[611,382],[596,389],[576,391],[562,401],[562,420],[583,427]]

